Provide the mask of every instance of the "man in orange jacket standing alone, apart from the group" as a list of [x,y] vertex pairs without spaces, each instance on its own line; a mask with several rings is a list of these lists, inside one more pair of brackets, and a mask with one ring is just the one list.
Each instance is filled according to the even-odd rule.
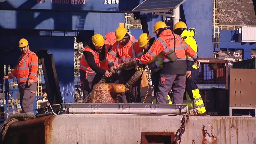
[[4,76],[4,79],[17,77],[22,113],[34,114],[33,104],[38,81],[38,57],[29,50],[28,41],[24,38],[19,41],[19,48],[22,55],[18,64],[11,74]]

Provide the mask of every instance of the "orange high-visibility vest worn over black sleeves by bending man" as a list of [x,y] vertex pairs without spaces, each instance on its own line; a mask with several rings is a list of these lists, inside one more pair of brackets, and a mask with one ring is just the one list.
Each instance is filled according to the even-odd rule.
[[[108,70],[109,69],[108,68],[108,60],[106,60],[107,55],[108,55],[108,48],[106,45],[103,45],[103,46],[105,49],[105,58],[103,61],[100,61],[99,53],[95,52],[89,46],[86,46],[83,51],[91,52],[94,55],[94,61],[95,61],[96,65],[104,70]],[[87,63],[84,54],[80,59],[80,69],[82,69],[83,71],[85,71],[87,73],[95,73],[95,71],[93,71],[92,68],[90,68],[89,64]]]

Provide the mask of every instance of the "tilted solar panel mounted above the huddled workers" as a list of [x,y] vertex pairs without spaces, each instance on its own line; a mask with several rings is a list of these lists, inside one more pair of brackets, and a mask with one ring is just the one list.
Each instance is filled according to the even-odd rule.
[[177,8],[186,0],[145,0],[137,7],[135,7],[133,12],[141,12],[141,11],[164,11]]

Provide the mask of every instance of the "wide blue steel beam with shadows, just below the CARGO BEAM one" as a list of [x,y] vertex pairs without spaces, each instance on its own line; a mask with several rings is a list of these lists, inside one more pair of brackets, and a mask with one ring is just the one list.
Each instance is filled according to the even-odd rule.
[[0,26],[8,29],[94,30],[105,35],[119,23],[124,23],[124,14],[0,10]]

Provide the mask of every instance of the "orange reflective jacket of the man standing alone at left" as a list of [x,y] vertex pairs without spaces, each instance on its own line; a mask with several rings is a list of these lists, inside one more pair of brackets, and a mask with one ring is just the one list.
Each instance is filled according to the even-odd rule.
[[22,54],[16,68],[7,76],[9,78],[17,77],[18,83],[28,82],[29,79],[37,82],[37,71],[38,57],[34,52],[28,50],[26,54]]

